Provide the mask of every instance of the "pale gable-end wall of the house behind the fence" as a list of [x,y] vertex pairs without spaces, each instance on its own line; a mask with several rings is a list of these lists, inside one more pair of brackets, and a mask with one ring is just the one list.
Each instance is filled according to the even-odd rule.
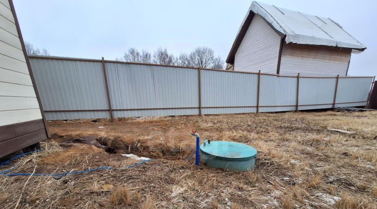
[[256,14],[234,57],[234,70],[276,73],[280,36]]

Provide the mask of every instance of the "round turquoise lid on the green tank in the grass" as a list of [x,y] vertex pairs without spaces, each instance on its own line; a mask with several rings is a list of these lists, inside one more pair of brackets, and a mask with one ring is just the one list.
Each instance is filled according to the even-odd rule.
[[226,160],[247,160],[257,155],[257,150],[252,146],[228,141],[206,142],[205,146],[200,145],[200,150],[218,159]]

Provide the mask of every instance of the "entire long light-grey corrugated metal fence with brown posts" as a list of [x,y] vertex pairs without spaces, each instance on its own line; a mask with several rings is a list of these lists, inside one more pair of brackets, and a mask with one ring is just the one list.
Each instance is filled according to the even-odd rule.
[[100,59],[30,56],[30,63],[47,120],[362,106],[372,82]]

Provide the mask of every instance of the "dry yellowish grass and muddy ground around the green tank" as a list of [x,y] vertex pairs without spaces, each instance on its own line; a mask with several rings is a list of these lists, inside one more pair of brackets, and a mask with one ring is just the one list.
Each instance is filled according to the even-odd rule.
[[[45,151],[15,160],[12,172],[124,168],[137,162],[119,155],[129,151],[154,160],[60,179],[0,176],[1,208],[14,208],[18,200],[18,208],[377,208],[377,111],[49,123],[55,134],[42,143]],[[202,139],[254,146],[256,168],[224,171],[185,162],[195,146],[191,129]],[[67,143],[88,134],[118,154]]]

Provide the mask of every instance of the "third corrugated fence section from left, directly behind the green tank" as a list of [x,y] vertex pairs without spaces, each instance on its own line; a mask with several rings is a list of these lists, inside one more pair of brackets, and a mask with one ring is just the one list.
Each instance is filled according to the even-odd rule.
[[201,80],[203,114],[256,112],[255,107],[237,106],[257,105],[258,75],[201,70]]

